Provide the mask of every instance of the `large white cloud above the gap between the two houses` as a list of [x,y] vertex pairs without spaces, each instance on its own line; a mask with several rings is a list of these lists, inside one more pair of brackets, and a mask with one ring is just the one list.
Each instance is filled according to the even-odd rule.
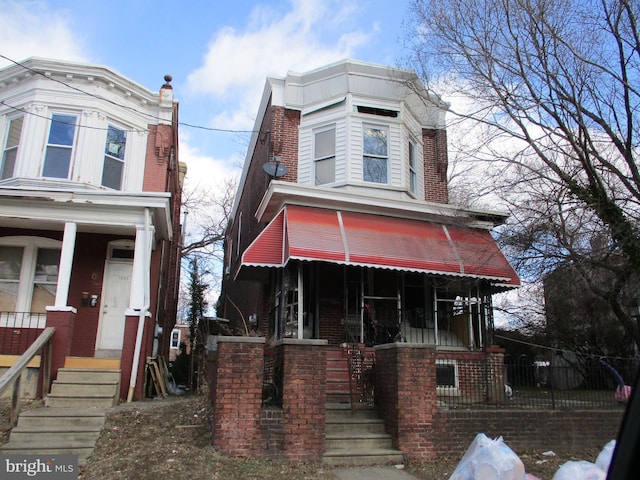
[[[350,57],[367,44],[376,25],[362,25],[353,1],[292,0],[280,14],[271,7],[255,7],[244,30],[225,27],[212,39],[200,68],[188,77],[193,95],[233,100],[244,111],[242,128],[255,114],[268,75],[306,71]],[[360,25],[362,30],[352,25]],[[235,119],[218,115],[216,126],[237,127]]]

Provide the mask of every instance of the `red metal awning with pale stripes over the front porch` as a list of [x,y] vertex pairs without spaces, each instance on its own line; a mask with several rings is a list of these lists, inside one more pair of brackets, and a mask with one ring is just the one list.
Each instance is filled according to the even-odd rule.
[[282,267],[290,259],[520,284],[487,230],[298,205],[278,213],[240,268]]

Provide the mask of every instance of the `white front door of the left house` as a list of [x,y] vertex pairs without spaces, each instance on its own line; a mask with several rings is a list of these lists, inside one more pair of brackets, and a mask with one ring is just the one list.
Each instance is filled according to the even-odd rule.
[[124,339],[125,311],[131,295],[133,262],[109,260],[102,289],[102,312],[96,339],[96,357],[120,357]]

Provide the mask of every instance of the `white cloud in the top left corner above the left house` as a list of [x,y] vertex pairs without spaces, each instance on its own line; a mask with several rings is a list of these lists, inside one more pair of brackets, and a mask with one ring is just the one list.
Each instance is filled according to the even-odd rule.
[[[2,55],[16,61],[28,57],[86,61],[83,44],[63,10],[53,11],[40,1],[0,0],[0,11]],[[0,67],[10,64],[0,58]]]

